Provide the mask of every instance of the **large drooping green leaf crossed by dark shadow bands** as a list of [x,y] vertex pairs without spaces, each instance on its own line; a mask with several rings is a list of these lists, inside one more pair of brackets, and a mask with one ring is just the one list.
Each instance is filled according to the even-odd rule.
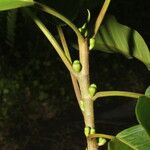
[[101,26],[94,49],[121,53],[127,58],[135,57],[150,70],[150,51],[142,36],[136,30],[118,23],[113,16],[106,18]]

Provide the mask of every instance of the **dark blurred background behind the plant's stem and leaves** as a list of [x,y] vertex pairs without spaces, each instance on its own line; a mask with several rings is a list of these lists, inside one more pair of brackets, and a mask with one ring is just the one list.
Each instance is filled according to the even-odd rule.
[[[108,14],[136,29],[150,46],[148,3],[146,0],[112,0]],[[99,6],[91,10],[93,17],[98,10]],[[9,15],[11,13],[0,13],[0,148],[85,149],[84,123],[69,72],[30,18],[18,10],[16,24],[8,26]],[[49,24],[47,16],[40,17]],[[54,25],[49,28],[56,33]],[[74,39],[70,31],[66,29],[66,32],[68,39]],[[78,58],[78,51],[72,49],[71,53],[74,59]],[[91,82],[102,91],[144,93],[150,83],[150,72],[141,62],[120,54],[92,51],[90,70]],[[97,132],[115,135],[137,124],[135,103],[121,97],[97,100]]]

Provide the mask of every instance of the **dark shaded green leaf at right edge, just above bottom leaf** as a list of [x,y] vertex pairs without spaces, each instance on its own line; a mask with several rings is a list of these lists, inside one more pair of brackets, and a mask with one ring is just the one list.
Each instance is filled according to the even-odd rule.
[[148,135],[150,136],[150,97],[139,97],[136,104],[136,117],[139,123],[144,127]]

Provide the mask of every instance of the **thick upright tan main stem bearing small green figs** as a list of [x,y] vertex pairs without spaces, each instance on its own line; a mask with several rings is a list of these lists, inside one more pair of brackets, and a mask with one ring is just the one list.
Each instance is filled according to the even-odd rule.
[[[94,106],[91,96],[89,94],[90,78],[89,78],[89,49],[88,41],[85,39],[79,44],[80,62],[82,70],[80,72],[78,82],[81,90],[82,101],[84,102],[84,122],[85,126],[95,128],[94,121]],[[87,150],[97,150],[96,139],[87,137]]]

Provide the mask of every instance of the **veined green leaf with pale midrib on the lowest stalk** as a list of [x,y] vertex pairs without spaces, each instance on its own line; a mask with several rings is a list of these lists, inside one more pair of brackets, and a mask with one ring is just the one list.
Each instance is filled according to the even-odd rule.
[[149,150],[150,138],[141,125],[125,129],[108,143],[108,150]]

